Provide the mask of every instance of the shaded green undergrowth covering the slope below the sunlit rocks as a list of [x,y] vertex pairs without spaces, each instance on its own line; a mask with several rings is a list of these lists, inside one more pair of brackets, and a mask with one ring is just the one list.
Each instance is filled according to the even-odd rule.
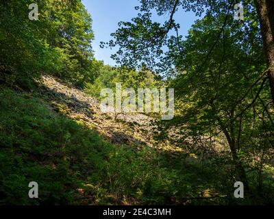
[[[34,96],[0,90],[0,205],[231,201],[222,197],[223,181],[229,181],[219,166],[173,159],[146,146],[111,144]],[[39,198],[29,198],[30,181],[38,183]]]

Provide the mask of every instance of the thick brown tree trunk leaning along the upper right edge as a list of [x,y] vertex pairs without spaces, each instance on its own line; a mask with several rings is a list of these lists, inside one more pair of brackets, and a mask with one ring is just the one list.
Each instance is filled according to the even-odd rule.
[[274,104],[274,1],[254,0],[260,20],[264,53],[266,55],[271,96]]

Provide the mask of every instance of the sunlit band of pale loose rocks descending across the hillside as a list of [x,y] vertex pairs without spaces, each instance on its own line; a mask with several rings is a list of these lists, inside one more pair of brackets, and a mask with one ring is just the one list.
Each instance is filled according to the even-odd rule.
[[[169,136],[165,140],[157,141],[153,136],[158,133],[158,127],[154,123],[154,119],[140,113],[135,114],[118,114],[101,112],[100,102],[88,96],[82,90],[73,88],[60,81],[59,79],[44,75],[41,79],[40,94],[50,103],[51,110],[65,114],[77,120],[79,123],[88,125],[91,129],[96,129],[101,136],[104,136],[110,142],[116,144],[129,144],[134,146],[146,145],[151,146],[160,151],[171,153],[171,156],[189,156],[186,146],[199,144],[193,140],[184,142],[184,150],[180,146],[178,132],[179,129],[169,129]],[[207,148],[208,146],[206,146]],[[203,148],[203,149],[202,149]],[[199,149],[204,156],[208,150],[204,146]]]

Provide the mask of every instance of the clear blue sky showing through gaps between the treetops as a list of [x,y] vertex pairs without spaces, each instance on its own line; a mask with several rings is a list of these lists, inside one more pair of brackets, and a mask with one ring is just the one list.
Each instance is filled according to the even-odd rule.
[[[119,21],[131,21],[138,11],[135,6],[140,5],[138,0],[83,0],[86,9],[92,16],[92,29],[95,33],[95,40],[92,42],[92,48],[95,51],[97,60],[103,60],[105,64],[115,65],[110,57],[114,50],[101,49],[100,42],[108,42],[112,39],[111,33],[118,28]],[[169,18],[169,14],[162,17],[154,16],[158,22],[164,22]],[[178,10],[175,14],[175,21],[181,25],[179,34],[186,36],[188,29],[197,20],[193,12],[184,12]]]

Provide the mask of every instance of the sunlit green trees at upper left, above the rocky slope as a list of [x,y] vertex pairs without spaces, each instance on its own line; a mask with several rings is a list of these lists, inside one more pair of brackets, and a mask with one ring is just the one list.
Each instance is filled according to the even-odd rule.
[[[31,3],[38,21],[29,20]],[[0,10],[1,81],[29,87],[41,73],[80,87],[94,80],[92,20],[81,1],[1,1]]]

